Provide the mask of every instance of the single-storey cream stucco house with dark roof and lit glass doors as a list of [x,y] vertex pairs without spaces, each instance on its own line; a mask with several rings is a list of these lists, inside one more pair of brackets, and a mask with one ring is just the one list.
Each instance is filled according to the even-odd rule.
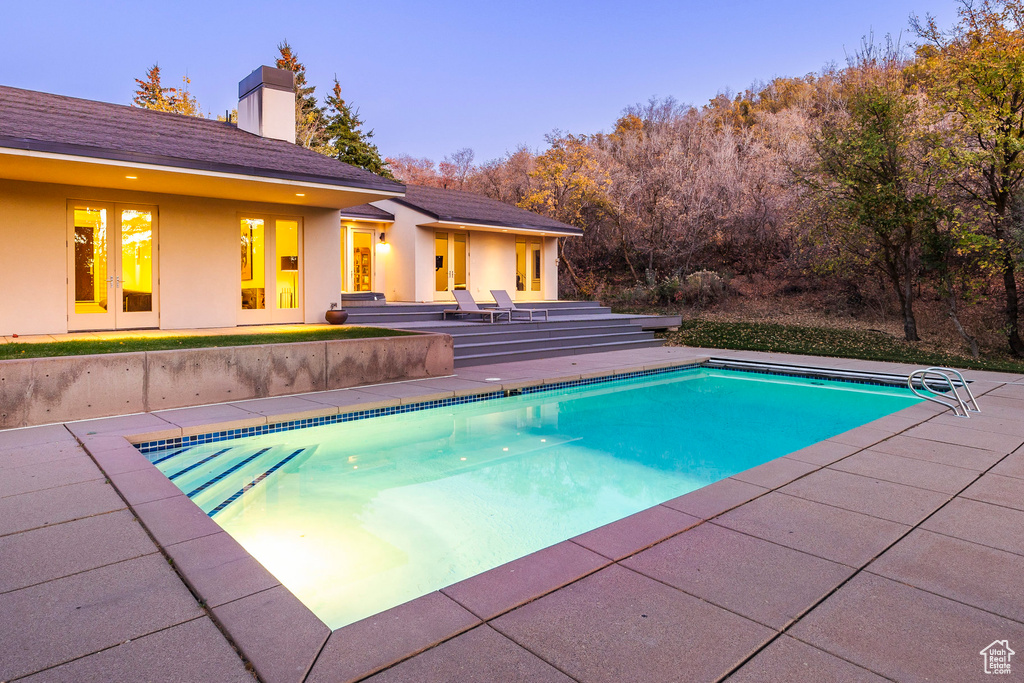
[[579,230],[296,145],[293,79],[244,79],[238,126],[0,86],[0,335],[321,323],[340,291],[517,271],[519,298],[556,297]]

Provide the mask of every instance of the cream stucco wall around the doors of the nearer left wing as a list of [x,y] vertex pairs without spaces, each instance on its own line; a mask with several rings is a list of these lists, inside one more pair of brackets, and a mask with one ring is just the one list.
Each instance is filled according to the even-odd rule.
[[321,322],[338,301],[336,209],[0,180],[0,335],[68,331],[70,200],[157,207],[162,329],[238,324],[239,214],[301,218],[303,318]]

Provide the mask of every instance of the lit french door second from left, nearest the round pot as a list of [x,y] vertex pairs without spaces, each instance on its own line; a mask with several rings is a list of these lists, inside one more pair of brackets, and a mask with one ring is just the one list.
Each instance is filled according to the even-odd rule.
[[302,224],[298,218],[245,215],[241,227],[239,323],[302,322]]

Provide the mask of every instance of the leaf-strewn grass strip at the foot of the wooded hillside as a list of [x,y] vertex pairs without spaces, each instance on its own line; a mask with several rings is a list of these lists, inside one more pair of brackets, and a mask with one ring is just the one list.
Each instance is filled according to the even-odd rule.
[[663,335],[673,346],[802,353],[865,360],[892,360],[915,366],[1024,373],[1024,361],[1010,357],[957,355],[928,349],[877,332],[811,328],[773,323],[683,321],[679,332]]

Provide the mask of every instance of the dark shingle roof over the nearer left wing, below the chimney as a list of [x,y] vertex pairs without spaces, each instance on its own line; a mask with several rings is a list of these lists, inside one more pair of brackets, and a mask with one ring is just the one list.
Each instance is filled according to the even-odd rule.
[[0,86],[0,147],[401,191],[283,140],[196,117]]

